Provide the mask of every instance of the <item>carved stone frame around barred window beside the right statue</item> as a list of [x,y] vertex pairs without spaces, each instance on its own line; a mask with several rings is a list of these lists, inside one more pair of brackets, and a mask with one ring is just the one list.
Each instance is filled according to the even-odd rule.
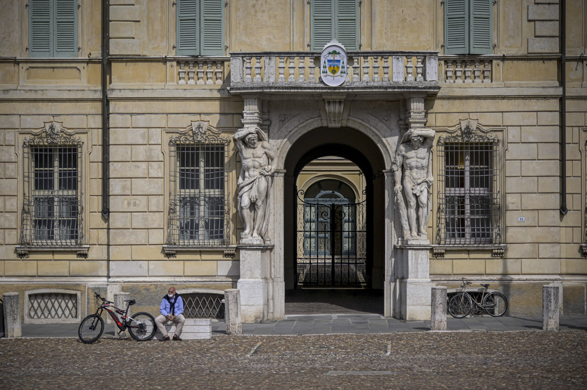
[[[463,249],[470,249],[470,250],[491,250],[491,257],[501,258],[504,256],[505,248],[507,247],[507,243],[505,242],[505,152],[508,149],[507,145],[507,134],[505,127],[484,127],[478,123],[478,120],[460,120],[454,127],[432,127],[434,131],[436,131],[436,137],[434,139],[434,145],[432,148],[432,167],[434,172],[434,184],[432,187],[431,200],[433,203],[432,209],[433,212],[431,213],[431,223],[432,223],[432,236],[434,237],[434,244],[433,247],[433,256],[437,258],[443,258],[446,250],[463,250]],[[467,138],[473,138],[479,135],[486,135],[489,138],[497,138],[499,141],[499,149],[497,152],[497,158],[495,158],[494,164],[497,164],[497,168],[499,170],[499,177],[498,185],[500,188],[499,192],[499,200],[500,200],[500,243],[491,243],[491,244],[481,244],[481,245],[474,245],[474,244],[440,244],[438,243],[438,207],[439,207],[439,199],[438,199],[438,176],[439,176],[439,169],[437,167],[437,141],[440,137],[446,136],[454,136],[460,135],[464,141]]]

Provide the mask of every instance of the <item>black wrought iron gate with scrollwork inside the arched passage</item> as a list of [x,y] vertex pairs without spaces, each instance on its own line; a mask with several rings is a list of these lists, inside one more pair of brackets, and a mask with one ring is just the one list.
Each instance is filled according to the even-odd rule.
[[296,285],[366,287],[366,201],[328,195],[303,199],[298,192]]

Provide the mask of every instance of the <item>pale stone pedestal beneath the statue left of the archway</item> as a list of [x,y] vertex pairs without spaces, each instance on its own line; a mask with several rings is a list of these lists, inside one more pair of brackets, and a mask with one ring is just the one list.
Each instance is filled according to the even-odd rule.
[[244,323],[260,323],[267,320],[268,277],[273,245],[257,245],[241,239],[237,245],[241,257],[241,279],[237,287],[241,291],[241,318]]

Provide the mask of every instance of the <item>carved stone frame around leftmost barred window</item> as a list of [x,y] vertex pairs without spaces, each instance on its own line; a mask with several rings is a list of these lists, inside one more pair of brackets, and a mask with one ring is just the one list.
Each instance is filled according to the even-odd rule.
[[[52,127],[54,126],[54,127]],[[82,213],[80,215],[80,219],[82,221],[82,229],[80,234],[82,235],[82,239],[80,240],[79,245],[21,245],[21,232],[22,232],[22,205],[25,201],[25,192],[24,192],[24,165],[25,164],[25,157],[23,152],[23,144],[25,143],[26,139],[30,139],[31,137],[48,137],[47,132],[50,131],[50,128],[58,129],[58,132],[65,135],[65,137],[69,138],[77,138],[82,143],[81,147],[81,170],[82,170],[82,180],[80,185],[80,198],[82,199]],[[52,136],[52,135],[50,135]],[[39,251],[39,252],[52,252],[55,250],[59,251],[75,251],[76,256],[80,258],[86,258],[87,253],[89,250],[89,236],[90,236],[90,229],[89,229],[89,221],[90,221],[90,208],[89,208],[89,189],[90,189],[90,154],[92,153],[92,145],[91,145],[92,135],[90,129],[79,129],[79,130],[68,130],[68,128],[63,127],[63,122],[57,121],[49,121],[43,122],[42,128],[37,128],[36,130],[19,130],[17,131],[16,136],[16,145],[15,145],[15,152],[17,155],[18,160],[18,216],[16,218],[16,230],[19,235],[18,245],[16,245],[16,255],[20,258],[29,257],[29,252],[32,251]],[[78,168],[79,169],[79,168]],[[83,222],[86,223],[83,223]]]

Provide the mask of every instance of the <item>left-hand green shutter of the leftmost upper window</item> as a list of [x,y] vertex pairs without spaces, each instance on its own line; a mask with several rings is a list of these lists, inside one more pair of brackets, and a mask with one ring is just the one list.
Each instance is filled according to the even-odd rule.
[[51,0],[29,0],[29,57],[53,55]]

